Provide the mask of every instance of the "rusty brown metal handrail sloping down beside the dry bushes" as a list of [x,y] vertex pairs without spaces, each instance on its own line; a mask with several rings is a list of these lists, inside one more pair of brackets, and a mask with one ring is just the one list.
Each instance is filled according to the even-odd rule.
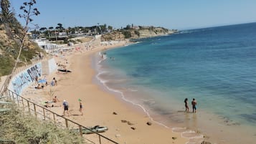
[[[25,97],[22,97],[21,95],[18,95],[16,94],[16,92],[13,92],[9,89],[7,89],[7,91],[5,92],[6,96],[11,98],[13,102],[15,102],[19,107],[22,107],[23,108],[23,112],[25,112],[25,106],[28,107],[28,111],[30,114],[33,114],[34,113],[34,116],[37,117],[38,115],[42,115],[44,117],[44,120],[46,120],[46,118],[49,118],[49,120],[52,122],[54,122],[54,125],[57,125],[56,123],[56,119],[55,119],[55,115],[57,117],[62,117],[62,119],[65,120],[65,126],[66,128],[69,128],[69,123],[71,123],[71,125],[76,125],[79,130],[80,130],[80,135],[82,136],[82,128],[85,128],[86,130],[90,130],[89,128],[86,128],[85,126],[83,125],[80,125],[79,123],[76,123],[75,121],[73,120],[70,120],[70,119],[67,119],[66,117],[63,117],[62,115],[59,115],[57,114],[56,112],[53,112],[52,110],[49,110],[47,109],[46,107],[43,107],[42,105],[38,105],[37,103],[34,103],[32,102],[31,100],[28,100],[27,98]],[[15,98],[15,96],[16,98]],[[24,102],[25,100],[25,102]],[[22,101],[22,104],[20,104],[20,101]],[[25,105],[25,103],[27,103],[27,105]],[[29,105],[29,103],[31,103],[32,105]],[[33,108],[31,108],[33,106]],[[43,113],[39,112],[39,110],[37,108],[41,108],[43,110]],[[51,113],[53,116],[52,117],[47,117],[45,116],[45,112],[49,112]],[[51,120],[51,118],[53,118],[53,120]],[[63,124],[63,123],[62,123]],[[57,125],[57,126],[60,126],[60,125]],[[117,142],[115,142],[114,140],[111,140],[110,138],[107,138],[105,137],[104,135],[101,135],[100,133],[97,133],[93,130],[90,130],[93,134],[96,134],[98,135],[99,137],[99,143],[101,144],[101,138],[105,138],[105,140],[108,140],[108,142],[111,142],[111,143],[115,143],[115,144],[118,144]]]

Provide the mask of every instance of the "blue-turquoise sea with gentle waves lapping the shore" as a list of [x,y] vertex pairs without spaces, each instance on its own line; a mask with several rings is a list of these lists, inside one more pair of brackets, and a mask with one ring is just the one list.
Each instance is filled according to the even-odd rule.
[[100,85],[189,143],[255,143],[256,23],[137,39],[100,54]]

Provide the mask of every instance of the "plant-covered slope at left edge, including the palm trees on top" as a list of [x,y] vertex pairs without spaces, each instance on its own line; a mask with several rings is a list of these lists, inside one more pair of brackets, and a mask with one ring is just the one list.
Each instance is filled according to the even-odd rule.
[[[0,12],[0,75],[9,75],[15,66],[15,59],[19,57],[22,46],[24,29],[11,11],[9,0],[1,1]],[[32,20],[32,19],[31,19]],[[17,65],[30,63],[39,52],[43,52],[37,44],[25,37]]]

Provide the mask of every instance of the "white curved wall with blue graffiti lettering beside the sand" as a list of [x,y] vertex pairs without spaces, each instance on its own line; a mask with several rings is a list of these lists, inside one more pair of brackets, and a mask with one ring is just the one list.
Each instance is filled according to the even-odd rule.
[[11,80],[9,85],[9,90],[16,92],[16,94],[20,95],[24,88],[34,82],[36,77],[40,77],[42,75],[42,64],[41,62],[35,64],[32,67],[20,72],[16,77]]

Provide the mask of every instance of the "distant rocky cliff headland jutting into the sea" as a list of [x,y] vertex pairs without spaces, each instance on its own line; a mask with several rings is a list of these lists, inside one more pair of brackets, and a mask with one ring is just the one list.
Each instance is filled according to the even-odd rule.
[[140,39],[146,37],[157,37],[166,34],[174,34],[177,30],[169,30],[163,27],[138,27],[136,29],[121,29],[103,34],[102,41]]

